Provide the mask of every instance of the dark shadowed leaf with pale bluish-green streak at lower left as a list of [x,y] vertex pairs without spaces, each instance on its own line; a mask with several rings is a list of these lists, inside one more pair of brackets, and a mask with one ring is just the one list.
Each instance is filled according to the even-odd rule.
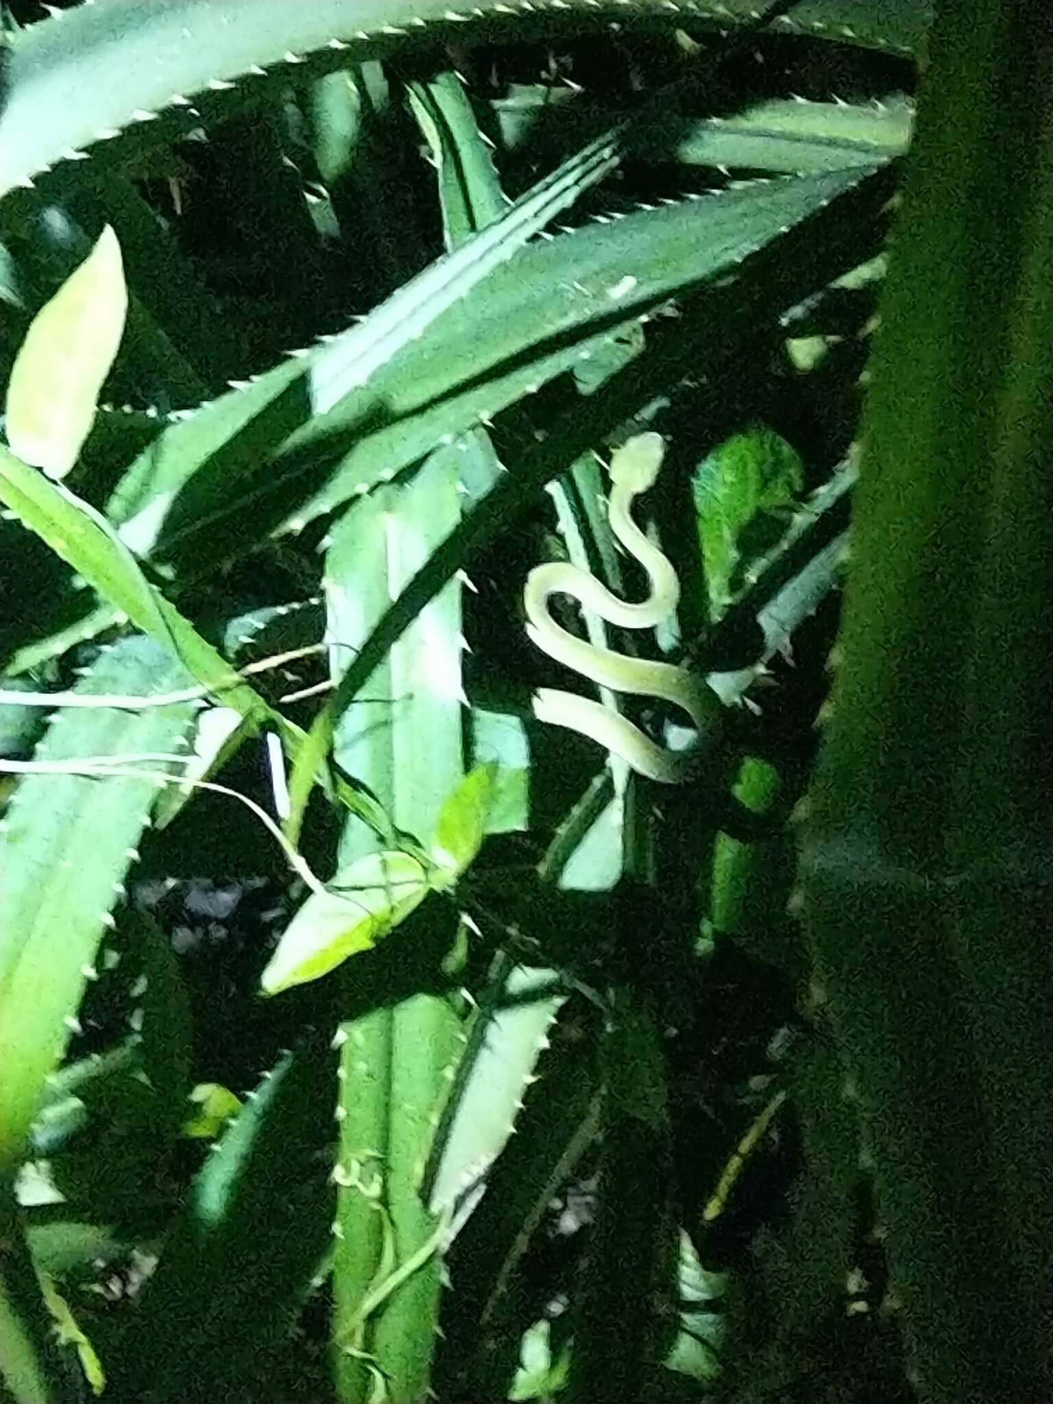
[[236,1398],[288,1349],[333,1221],[329,1045],[312,1033],[282,1054],[205,1158],[107,1352],[114,1398]]

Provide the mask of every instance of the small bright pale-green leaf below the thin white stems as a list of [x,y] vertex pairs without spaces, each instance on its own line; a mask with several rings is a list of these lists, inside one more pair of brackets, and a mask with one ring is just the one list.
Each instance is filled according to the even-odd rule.
[[264,994],[317,980],[343,960],[369,951],[418,907],[431,889],[410,854],[366,854],[313,893],[292,918],[263,973]]

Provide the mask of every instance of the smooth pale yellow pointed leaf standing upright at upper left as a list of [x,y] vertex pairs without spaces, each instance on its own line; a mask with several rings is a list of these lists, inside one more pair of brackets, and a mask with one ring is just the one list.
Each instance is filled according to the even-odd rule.
[[29,324],[7,386],[7,442],[62,479],[91,431],[128,313],[121,244],[107,225],[87,258]]

